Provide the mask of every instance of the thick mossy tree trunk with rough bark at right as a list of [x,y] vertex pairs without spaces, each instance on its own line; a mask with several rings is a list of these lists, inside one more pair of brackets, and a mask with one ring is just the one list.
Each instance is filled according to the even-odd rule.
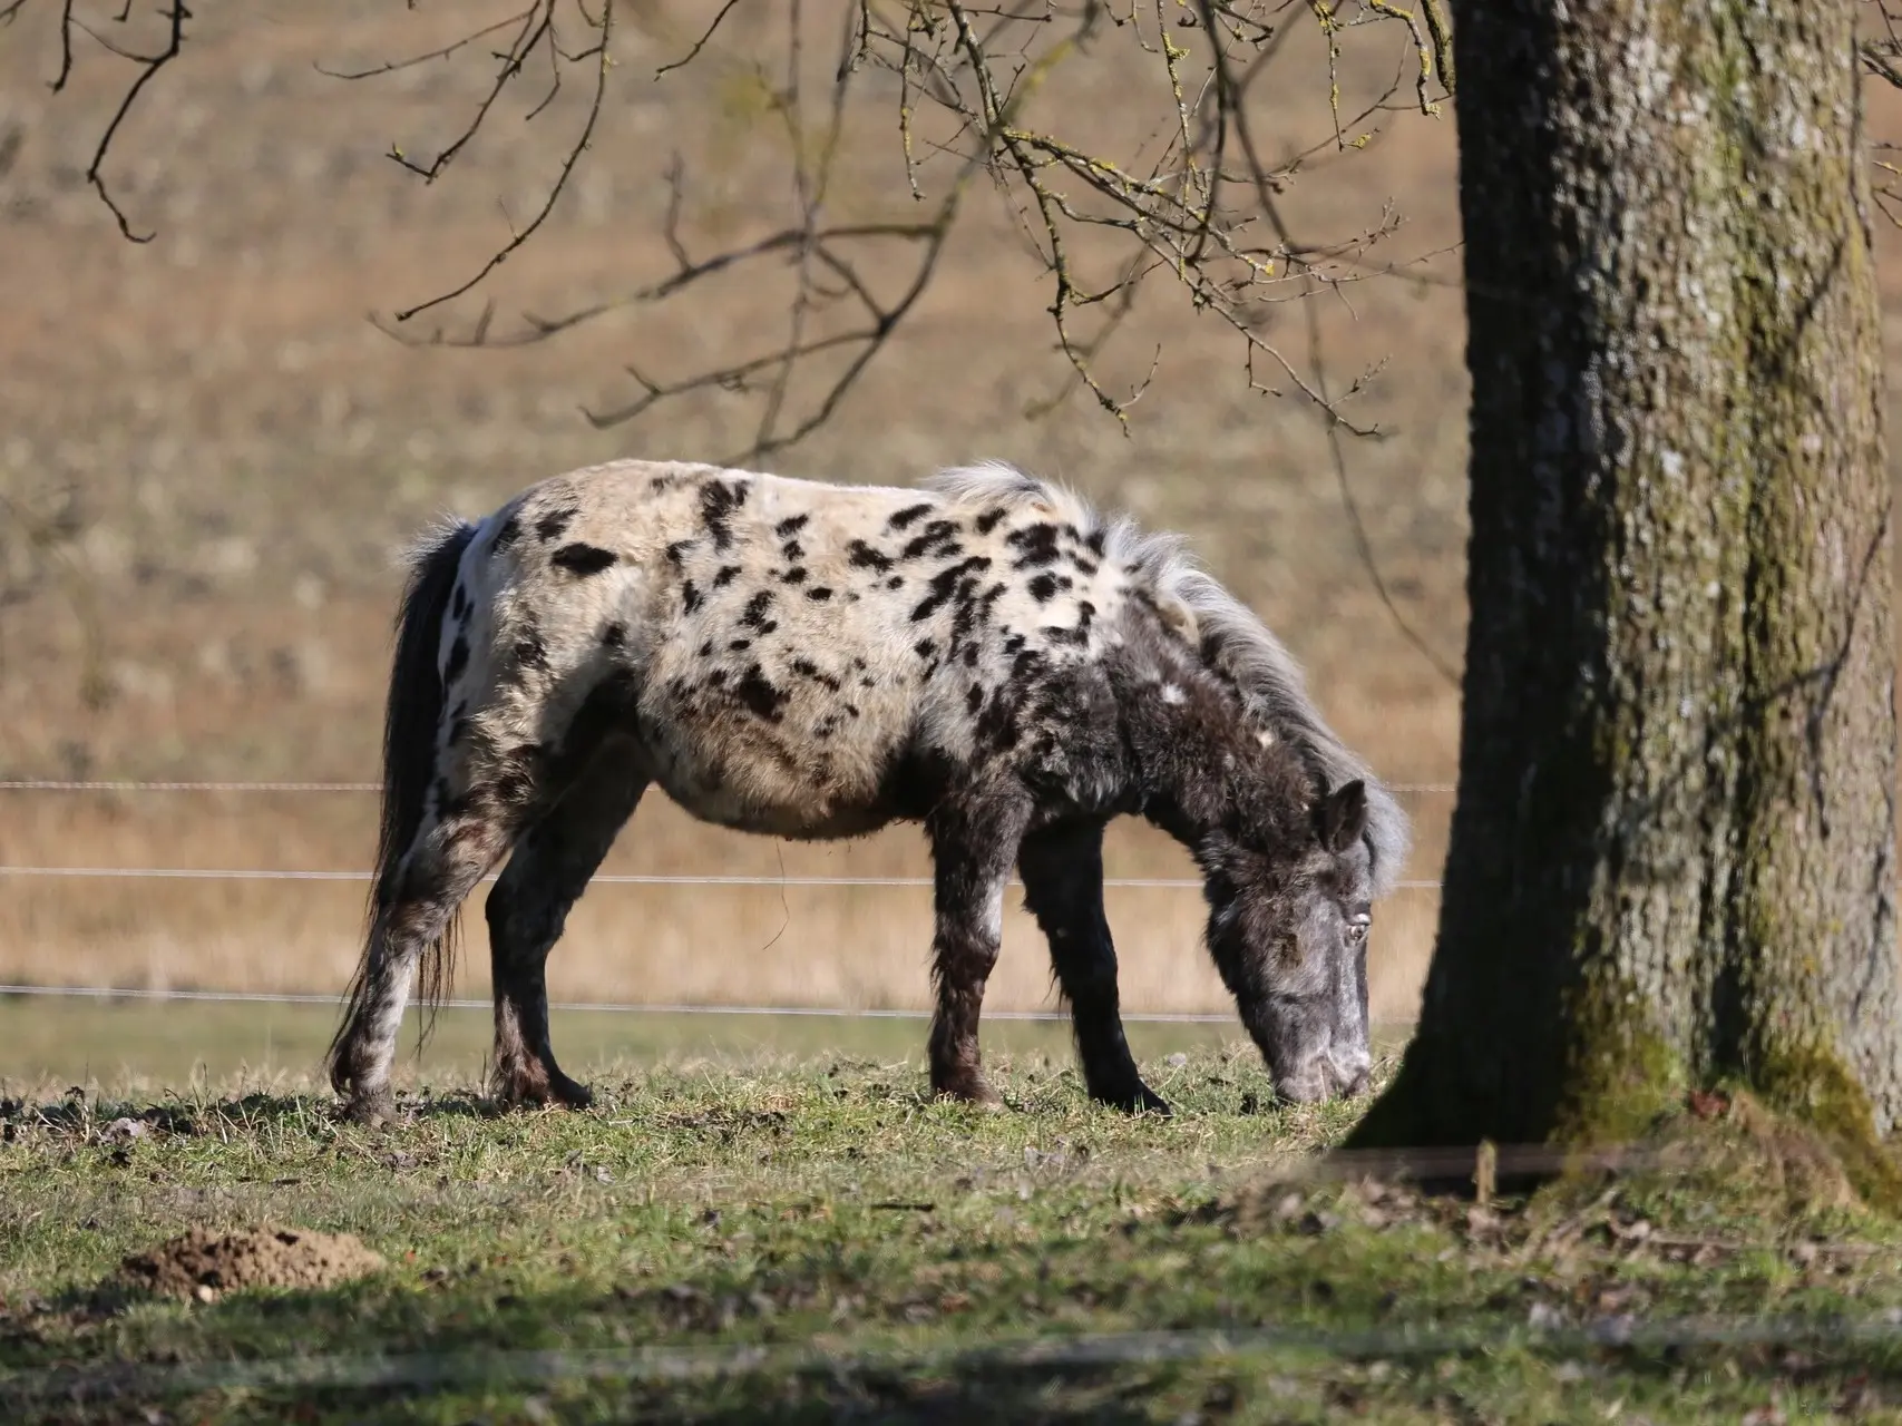
[[1712,1084],[1864,1148],[1902,1120],[1854,11],[1459,13],[1459,806],[1360,1143],[1617,1139]]

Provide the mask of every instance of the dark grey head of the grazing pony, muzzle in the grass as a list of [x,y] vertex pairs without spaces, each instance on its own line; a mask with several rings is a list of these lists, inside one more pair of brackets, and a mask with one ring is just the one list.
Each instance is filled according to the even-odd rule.
[[1324,793],[1297,835],[1231,829],[1204,842],[1208,945],[1293,1103],[1368,1088],[1368,789]]

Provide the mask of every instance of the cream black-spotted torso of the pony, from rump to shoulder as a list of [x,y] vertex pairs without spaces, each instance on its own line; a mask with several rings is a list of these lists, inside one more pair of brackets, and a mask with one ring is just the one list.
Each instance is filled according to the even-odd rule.
[[546,662],[544,723],[631,675],[662,787],[791,837],[911,816],[921,766],[972,772],[1033,738],[1054,755],[1048,688],[1101,654],[1132,595],[1101,530],[1021,491],[658,462],[531,487],[472,559],[512,626],[495,641]]

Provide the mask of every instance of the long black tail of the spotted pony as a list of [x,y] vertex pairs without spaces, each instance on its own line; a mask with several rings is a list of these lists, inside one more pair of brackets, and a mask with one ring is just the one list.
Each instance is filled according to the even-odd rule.
[[[456,519],[415,544],[409,555],[409,584],[396,616],[396,654],[390,660],[390,692],[382,711],[382,816],[377,825],[377,873],[365,911],[363,958],[350,979],[348,1010],[331,1040],[337,1063],[350,1025],[363,1010],[373,937],[382,915],[394,905],[398,873],[409,844],[422,825],[422,808],[436,776],[436,734],[443,719],[441,648],[443,614],[456,586],[462,551],[476,538],[477,525]],[[422,953],[420,998],[436,1006],[455,973],[458,918],[451,916],[443,934]]]

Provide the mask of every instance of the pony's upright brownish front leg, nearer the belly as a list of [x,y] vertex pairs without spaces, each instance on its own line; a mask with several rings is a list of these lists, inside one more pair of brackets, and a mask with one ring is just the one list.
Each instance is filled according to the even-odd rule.
[[934,859],[932,1093],[997,1108],[983,1078],[978,1017],[1004,937],[1004,886],[1029,808],[1014,800],[947,799],[924,823]]

